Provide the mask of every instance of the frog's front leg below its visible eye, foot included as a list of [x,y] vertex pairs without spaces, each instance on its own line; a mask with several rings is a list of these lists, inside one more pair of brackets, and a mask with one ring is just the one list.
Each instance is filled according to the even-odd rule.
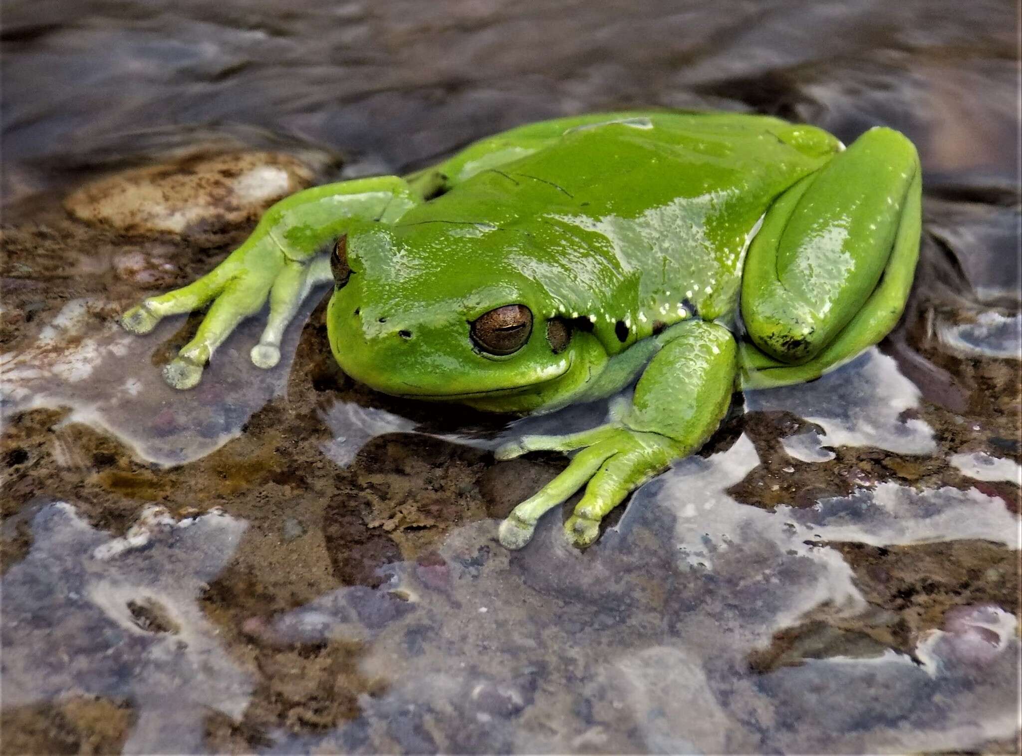
[[576,546],[589,546],[600,521],[632,490],[713,433],[734,390],[734,337],[723,326],[702,321],[680,324],[663,335],[668,333],[672,338],[643,372],[619,420],[567,436],[531,436],[498,452],[507,459],[539,448],[584,447],[564,472],[515,507],[501,524],[501,544],[525,546],[539,518],[588,482],[565,531]]

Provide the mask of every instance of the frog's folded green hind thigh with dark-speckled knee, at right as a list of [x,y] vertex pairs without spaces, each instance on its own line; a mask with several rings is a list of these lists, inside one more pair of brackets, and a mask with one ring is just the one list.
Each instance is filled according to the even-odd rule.
[[[876,301],[874,294],[884,288],[882,277],[911,281],[919,251],[919,174],[912,143],[878,128],[775,202],[742,279],[742,318],[759,349],[783,363],[804,363],[864,305],[893,305],[900,314],[907,289],[893,287],[886,294],[893,301]],[[868,343],[885,333],[870,333]]]

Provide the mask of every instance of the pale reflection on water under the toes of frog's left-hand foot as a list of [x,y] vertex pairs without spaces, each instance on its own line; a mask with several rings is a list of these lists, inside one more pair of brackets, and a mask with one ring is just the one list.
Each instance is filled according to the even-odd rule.
[[[296,316],[308,320],[310,297]],[[34,343],[0,356],[0,403],[9,417],[24,410],[69,407],[64,423],[111,433],[138,459],[180,465],[205,457],[236,438],[252,413],[281,392],[299,331],[281,344],[280,364],[259,370],[248,359],[262,327],[241,324],[216,356],[194,391],[168,386],[152,355],[174,335],[182,318],[168,318],[145,338],[124,331],[115,319],[124,302],[75,299],[45,326]]]

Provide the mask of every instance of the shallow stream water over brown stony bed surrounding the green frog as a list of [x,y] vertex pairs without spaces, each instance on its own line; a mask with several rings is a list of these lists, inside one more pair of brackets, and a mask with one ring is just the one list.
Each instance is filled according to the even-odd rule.
[[[3,26],[4,752],[1017,752],[1012,7],[15,0]],[[199,181],[173,233],[61,205],[139,166],[273,151],[324,181],[636,104],[901,129],[924,246],[888,339],[746,393],[586,552],[556,512],[499,546],[565,461],[492,451],[606,406],[374,394],[320,296],[280,366],[248,363],[252,320],[176,392],[197,320],[113,318],[256,212]]]

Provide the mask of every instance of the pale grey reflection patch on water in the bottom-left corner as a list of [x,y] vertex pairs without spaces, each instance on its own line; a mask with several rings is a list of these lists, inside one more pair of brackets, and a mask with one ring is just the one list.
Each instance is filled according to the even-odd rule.
[[125,753],[204,750],[207,709],[238,718],[252,688],[198,605],[244,529],[150,509],[111,538],[69,504],[40,509],[32,550],[2,581],[4,706],[124,698],[136,713]]

